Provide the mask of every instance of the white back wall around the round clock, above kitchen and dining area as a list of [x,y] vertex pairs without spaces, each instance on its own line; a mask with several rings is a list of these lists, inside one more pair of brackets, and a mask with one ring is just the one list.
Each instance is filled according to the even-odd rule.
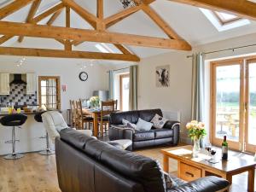
[[[92,96],[93,90],[108,90],[108,68],[100,64],[80,70],[77,64],[81,63],[81,60],[26,57],[24,65],[16,67],[15,61],[20,58],[0,56],[0,73],[36,73],[37,76],[60,76],[61,84],[67,84],[67,91],[61,91],[61,109],[64,114],[69,108],[69,100],[88,98]],[[85,71],[89,75],[85,82],[79,80],[81,71]]]

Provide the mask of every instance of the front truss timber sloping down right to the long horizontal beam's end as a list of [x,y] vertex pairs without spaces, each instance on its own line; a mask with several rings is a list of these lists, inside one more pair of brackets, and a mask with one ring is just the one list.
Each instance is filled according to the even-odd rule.
[[160,15],[158,15],[154,9],[150,8],[148,5],[143,5],[143,11],[145,14],[147,14],[151,20],[154,20],[154,23],[158,25],[169,38],[176,38],[176,39],[182,39],[180,38],[177,33],[172,29],[171,26],[169,26],[168,23],[166,23],[165,20],[163,20]]

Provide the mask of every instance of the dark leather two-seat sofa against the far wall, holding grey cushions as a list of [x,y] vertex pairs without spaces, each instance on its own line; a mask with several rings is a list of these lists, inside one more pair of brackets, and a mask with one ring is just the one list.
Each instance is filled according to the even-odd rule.
[[154,118],[155,114],[163,116],[160,108],[111,113],[108,133],[109,139],[130,139],[132,141],[132,145],[127,148],[128,150],[157,146],[161,144],[176,146],[179,141],[180,129],[178,121],[169,120],[162,129],[154,129],[153,127],[149,131],[132,131],[127,127],[121,126],[122,119],[130,121],[132,124],[137,124],[139,118],[149,122]]

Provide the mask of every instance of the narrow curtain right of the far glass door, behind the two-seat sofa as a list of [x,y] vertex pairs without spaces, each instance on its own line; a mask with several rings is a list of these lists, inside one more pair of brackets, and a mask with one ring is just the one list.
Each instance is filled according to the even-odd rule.
[[129,110],[137,110],[137,66],[130,67]]

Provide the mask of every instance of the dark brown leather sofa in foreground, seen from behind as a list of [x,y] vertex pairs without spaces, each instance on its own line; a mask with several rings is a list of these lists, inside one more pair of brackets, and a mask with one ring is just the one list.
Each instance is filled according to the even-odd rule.
[[213,192],[229,186],[218,177],[191,183],[174,177],[178,186],[165,189],[155,160],[72,129],[62,130],[60,136],[55,139],[55,156],[62,192]]

